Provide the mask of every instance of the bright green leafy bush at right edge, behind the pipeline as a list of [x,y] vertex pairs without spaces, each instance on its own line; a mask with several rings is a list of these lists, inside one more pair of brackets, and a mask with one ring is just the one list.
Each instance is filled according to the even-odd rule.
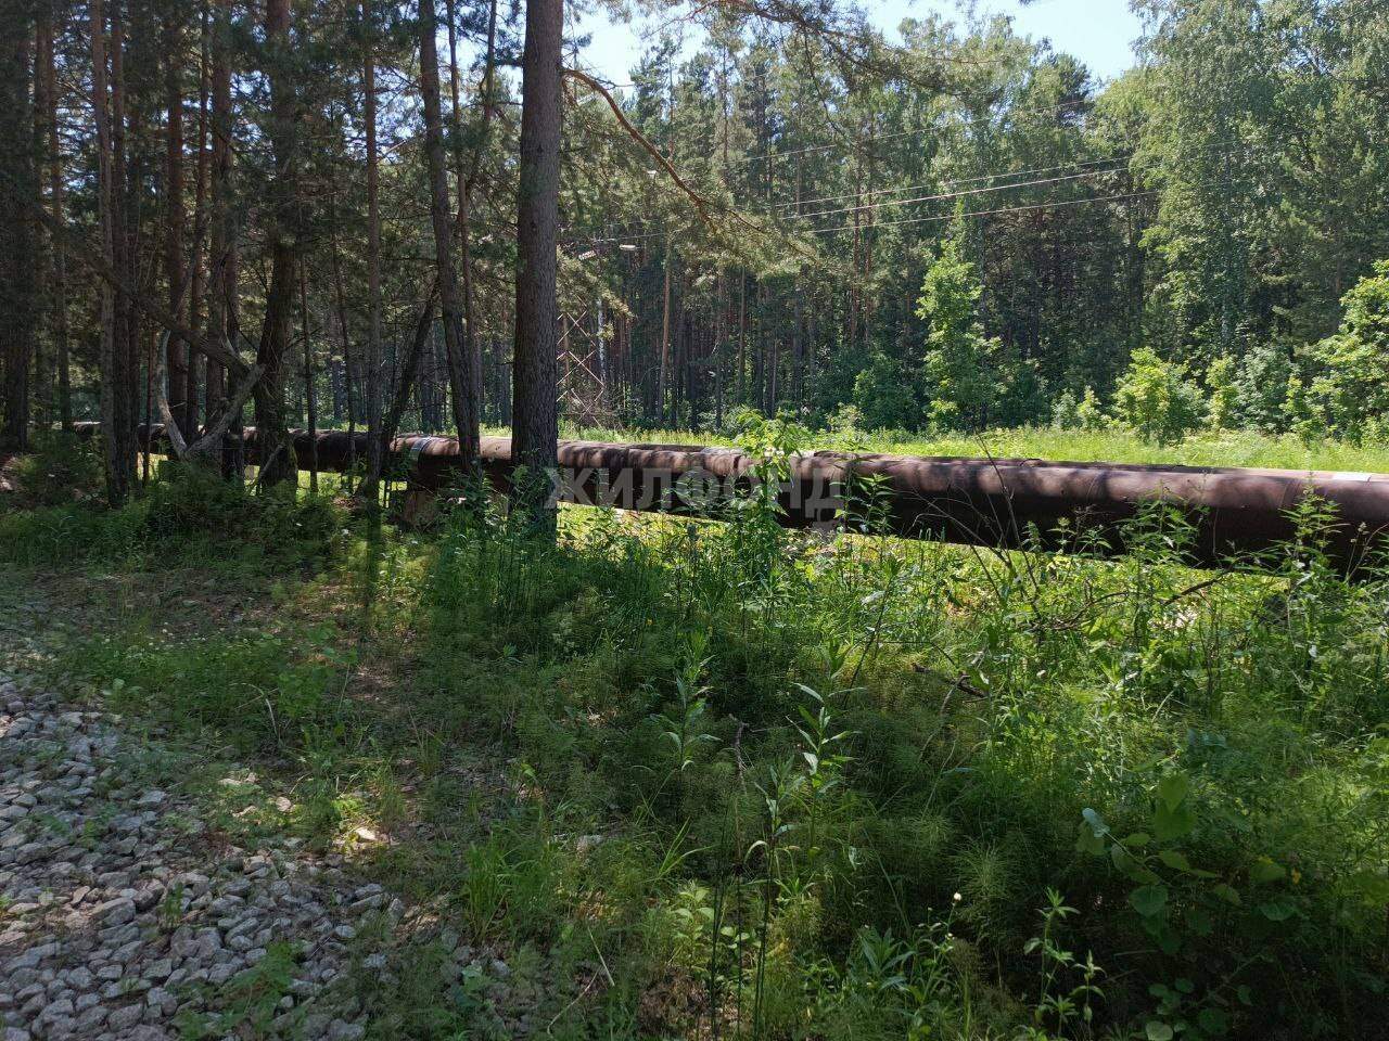
[[1342,298],[1340,330],[1310,348],[1311,396],[1329,429],[1349,440],[1389,430],[1389,261]]

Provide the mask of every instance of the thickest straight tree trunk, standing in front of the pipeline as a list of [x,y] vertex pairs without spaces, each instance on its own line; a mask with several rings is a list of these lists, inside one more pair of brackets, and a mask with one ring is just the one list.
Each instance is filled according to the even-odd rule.
[[521,60],[521,165],[517,198],[517,300],[511,454],[535,477],[519,507],[553,532],[557,505],[556,240],[560,225],[560,133],[564,0],[529,0]]

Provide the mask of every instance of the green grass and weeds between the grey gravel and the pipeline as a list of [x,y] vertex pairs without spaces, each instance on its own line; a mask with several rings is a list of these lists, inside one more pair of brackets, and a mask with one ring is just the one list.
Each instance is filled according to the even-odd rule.
[[[251,545],[282,516],[228,505]],[[408,941],[374,1037],[1381,1029],[1389,575],[1340,579],[1315,509],[1275,570],[1220,577],[1165,514],[1118,561],[822,540],[757,502],[564,511],[554,547],[329,515],[333,552],[271,529],[260,622],[129,612],[61,668],[275,776],[283,827],[506,959],[451,980]]]

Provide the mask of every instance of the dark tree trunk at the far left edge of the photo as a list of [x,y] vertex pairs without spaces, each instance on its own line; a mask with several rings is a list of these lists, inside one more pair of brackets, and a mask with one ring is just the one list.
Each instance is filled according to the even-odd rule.
[[17,451],[29,447],[29,365],[38,321],[38,236],[31,212],[39,198],[29,103],[33,33],[28,6],[11,6],[0,19],[0,361],[4,362],[0,446]]

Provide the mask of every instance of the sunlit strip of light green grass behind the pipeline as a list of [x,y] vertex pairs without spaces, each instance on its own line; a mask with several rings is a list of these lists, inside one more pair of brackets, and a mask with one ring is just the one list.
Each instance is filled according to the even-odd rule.
[[[494,430],[494,433],[506,433]],[[611,430],[567,426],[564,437],[665,444],[733,444],[729,436],[696,430]],[[1122,430],[1058,430],[1049,426],[986,430],[979,434],[928,437],[904,432],[833,432],[808,434],[806,447],[903,455],[995,455],[1068,459],[1074,462],[1156,462],[1185,466],[1260,466],[1292,471],[1389,472],[1389,446],[1353,446],[1322,440],[1306,443],[1286,434],[1253,430],[1206,432],[1179,444],[1147,444]]]

